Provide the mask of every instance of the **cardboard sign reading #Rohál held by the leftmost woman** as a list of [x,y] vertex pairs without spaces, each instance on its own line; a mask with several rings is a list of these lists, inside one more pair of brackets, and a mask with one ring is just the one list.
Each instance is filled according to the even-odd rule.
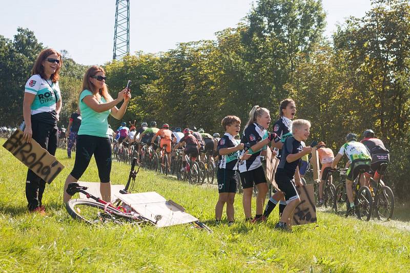
[[24,141],[23,132],[18,129],[7,139],[3,147],[49,184],[64,169],[63,164],[34,139],[31,139],[30,143]]

